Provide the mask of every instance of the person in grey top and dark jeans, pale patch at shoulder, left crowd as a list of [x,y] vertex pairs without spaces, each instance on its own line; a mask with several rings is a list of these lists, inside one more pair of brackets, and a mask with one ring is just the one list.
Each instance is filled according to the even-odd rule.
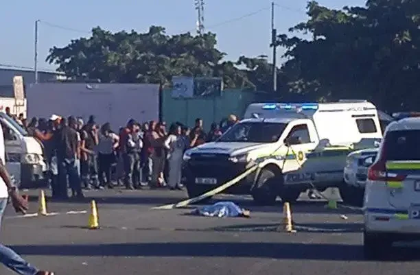
[[[115,150],[118,147],[118,142],[119,136],[110,129],[110,123],[102,125],[97,146],[99,180],[103,187],[107,186],[110,189],[114,187],[111,180],[111,167],[117,160]],[[106,180],[104,180],[104,174]]]

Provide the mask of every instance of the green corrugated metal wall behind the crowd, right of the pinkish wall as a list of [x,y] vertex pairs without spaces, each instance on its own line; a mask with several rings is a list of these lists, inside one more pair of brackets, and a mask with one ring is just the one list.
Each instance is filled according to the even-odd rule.
[[196,118],[200,117],[209,130],[210,124],[220,122],[227,116],[244,115],[246,107],[259,101],[259,93],[253,91],[224,90],[222,97],[201,99],[174,99],[171,89],[162,91],[162,117],[168,124],[179,121],[192,127]]

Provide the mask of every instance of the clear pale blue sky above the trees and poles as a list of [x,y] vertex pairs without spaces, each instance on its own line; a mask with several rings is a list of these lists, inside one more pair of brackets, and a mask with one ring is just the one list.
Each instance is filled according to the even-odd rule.
[[[271,56],[268,47],[271,0],[205,2],[206,30],[218,35],[218,48],[228,53],[227,58]],[[365,0],[318,2],[330,8],[342,8],[345,5],[364,5]],[[276,3],[275,24],[279,33],[305,21],[305,0]],[[71,39],[89,36],[91,28],[97,25],[113,32],[121,29],[145,32],[150,25],[162,25],[168,34],[176,34],[194,32],[196,18],[194,0],[3,1],[0,9],[0,25],[3,26],[0,29],[0,63],[33,67],[34,21],[37,19],[45,22],[39,26],[38,68],[54,69],[44,61],[49,48],[62,47]]]

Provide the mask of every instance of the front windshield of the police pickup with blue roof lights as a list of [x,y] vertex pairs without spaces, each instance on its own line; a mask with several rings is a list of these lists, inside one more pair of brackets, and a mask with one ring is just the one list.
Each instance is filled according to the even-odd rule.
[[242,122],[224,133],[218,142],[273,143],[279,140],[286,123]]

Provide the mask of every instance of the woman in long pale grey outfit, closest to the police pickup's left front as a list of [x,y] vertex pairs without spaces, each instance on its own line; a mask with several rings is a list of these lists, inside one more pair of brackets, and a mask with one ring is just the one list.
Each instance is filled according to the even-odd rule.
[[183,165],[183,154],[185,149],[185,141],[181,136],[181,128],[179,125],[173,124],[170,128],[170,134],[163,143],[168,150],[168,164],[169,164],[169,180],[168,185],[171,190],[179,189],[181,180],[181,169]]

